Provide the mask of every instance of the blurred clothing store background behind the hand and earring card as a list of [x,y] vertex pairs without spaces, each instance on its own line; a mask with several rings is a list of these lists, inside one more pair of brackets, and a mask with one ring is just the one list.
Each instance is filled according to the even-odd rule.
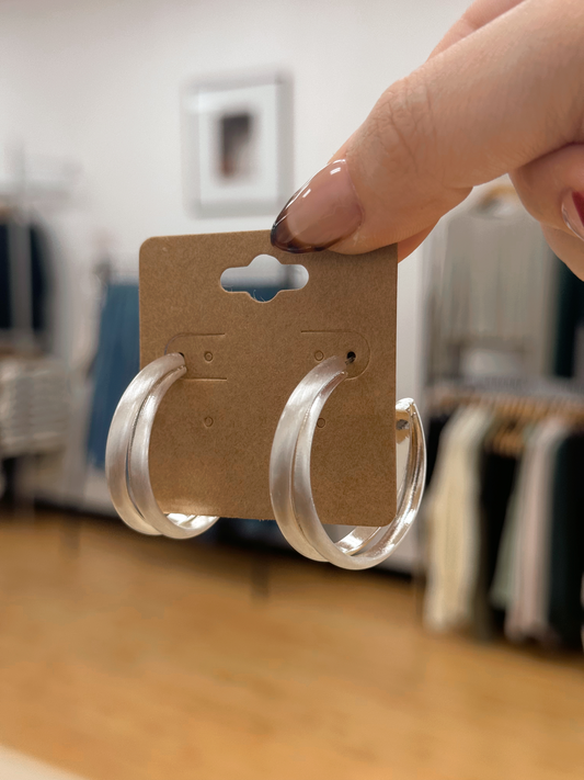
[[508,181],[399,269],[428,489],[382,569],[140,538],[104,477],[141,242],[270,228],[466,5],[0,0],[0,777],[582,777],[584,283]]

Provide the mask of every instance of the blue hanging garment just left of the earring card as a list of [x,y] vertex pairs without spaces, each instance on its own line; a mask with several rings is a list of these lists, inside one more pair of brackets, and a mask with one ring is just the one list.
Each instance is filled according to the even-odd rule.
[[93,366],[94,392],[88,438],[88,456],[105,466],[107,432],[124,391],[139,371],[139,310],[137,284],[107,287]]

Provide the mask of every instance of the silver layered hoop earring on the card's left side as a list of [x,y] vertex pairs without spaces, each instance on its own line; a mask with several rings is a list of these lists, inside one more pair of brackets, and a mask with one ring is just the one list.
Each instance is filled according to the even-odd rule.
[[169,387],[186,373],[182,354],[165,354],[147,365],[129,384],[112,420],[105,450],[105,474],[114,507],[135,531],[190,539],[219,518],[164,515],[150,484],[152,425]]

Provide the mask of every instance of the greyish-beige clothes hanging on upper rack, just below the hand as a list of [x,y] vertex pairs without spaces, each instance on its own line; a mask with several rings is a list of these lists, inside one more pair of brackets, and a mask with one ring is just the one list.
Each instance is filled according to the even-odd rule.
[[440,225],[426,245],[428,381],[549,373],[562,263],[538,223],[514,196]]

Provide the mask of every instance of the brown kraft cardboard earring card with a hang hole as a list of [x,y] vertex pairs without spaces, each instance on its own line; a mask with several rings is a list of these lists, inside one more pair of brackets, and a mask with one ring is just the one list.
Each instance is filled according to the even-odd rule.
[[[301,290],[260,303],[221,274],[260,255],[304,265]],[[182,352],[150,445],[165,512],[273,519],[268,466],[286,402],[334,354],[354,353],[312,449],[314,502],[325,523],[385,525],[396,515],[397,252],[290,255],[270,233],[150,238],[140,250],[140,360]]]

